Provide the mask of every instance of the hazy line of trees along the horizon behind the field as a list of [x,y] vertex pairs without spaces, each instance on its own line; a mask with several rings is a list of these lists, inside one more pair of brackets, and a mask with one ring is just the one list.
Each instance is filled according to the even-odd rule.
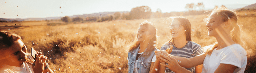
[[[215,6],[215,8],[218,6]],[[221,7],[225,7],[222,5]],[[62,17],[61,20],[65,22],[78,22],[78,21],[111,21],[111,20],[133,20],[133,19],[150,19],[150,18],[160,18],[160,17],[171,17],[171,16],[188,16],[188,15],[202,15],[205,14],[205,5],[201,2],[194,4],[188,3],[185,6],[185,9],[188,11],[184,12],[165,12],[162,13],[161,9],[157,9],[156,12],[152,12],[149,6],[138,6],[132,8],[130,12],[121,13],[115,12],[113,15],[107,15],[102,17],[75,17],[73,19],[69,18],[68,16]]]

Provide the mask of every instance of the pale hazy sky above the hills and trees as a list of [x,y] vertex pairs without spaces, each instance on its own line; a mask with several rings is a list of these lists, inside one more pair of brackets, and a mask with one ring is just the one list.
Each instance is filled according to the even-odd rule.
[[137,6],[149,6],[152,12],[160,8],[164,13],[187,11],[187,3],[198,2],[203,2],[205,9],[222,4],[227,8],[241,8],[256,3],[256,0],[0,0],[0,18],[45,18],[131,11]]

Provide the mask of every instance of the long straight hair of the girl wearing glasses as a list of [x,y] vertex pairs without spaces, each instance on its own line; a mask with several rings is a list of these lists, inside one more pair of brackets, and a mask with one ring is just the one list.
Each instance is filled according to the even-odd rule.
[[[175,16],[175,17],[169,17],[167,19],[165,19],[165,23],[166,24],[170,24],[172,20],[178,20],[179,22],[181,22],[181,24],[184,26],[184,29],[186,30],[185,34],[186,34],[186,40],[188,41],[192,41],[191,39],[191,23],[190,21],[182,16]],[[169,40],[166,43],[172,43],[174,41],[174,39],[172,38],[171,40]],[[171,44],[170,44],[171,45]]]

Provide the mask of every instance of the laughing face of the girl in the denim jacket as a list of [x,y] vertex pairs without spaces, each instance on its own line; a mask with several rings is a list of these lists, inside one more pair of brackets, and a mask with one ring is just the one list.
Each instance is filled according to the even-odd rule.
[[137,38],[140,44],[148,43],[150,41],[150,31],[145,25],[142,25],[139,27]]

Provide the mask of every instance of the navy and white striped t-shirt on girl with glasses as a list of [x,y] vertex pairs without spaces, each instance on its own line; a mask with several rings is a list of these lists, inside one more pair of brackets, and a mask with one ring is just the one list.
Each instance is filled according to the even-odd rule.
[[[192,41],[187,42],[187,44],[182,48],[176,48],[173,44],[166,43],[161,47],[161,50],[170,48],[170,45],[173,46],[173,50],[170,53],[173,56],[192,58],[203,53],[201,45],[194,43]],[[168,65],[168,63],[166,63],[166,65]],[[195,73],[195,67],[185,68],[185,69]],[[171,71],[168,67],[166,67],[165,73],[175,73],[175,72]]]

